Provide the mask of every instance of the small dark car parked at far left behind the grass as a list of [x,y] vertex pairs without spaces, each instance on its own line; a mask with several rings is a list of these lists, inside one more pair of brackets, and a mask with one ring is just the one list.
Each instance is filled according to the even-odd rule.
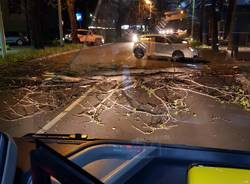
[[28,37],[19,32],[6,32],[5,37],[7,44],[23,46],[29,43]]

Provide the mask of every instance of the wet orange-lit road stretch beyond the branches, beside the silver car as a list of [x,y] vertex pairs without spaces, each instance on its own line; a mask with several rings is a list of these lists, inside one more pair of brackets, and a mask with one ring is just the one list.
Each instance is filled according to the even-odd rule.
[[[92,69],[121,69],[121,68],[140,68],[158,69],[171,67],[169,59],[143,58],[136,59],[132,53],[133,43],[116,43],[104,45],[97,48],[84,49],[77,55],[71,63],[71,69],[76,72],[86,72]],[[176,66],[182,66],[175,63]],[[96,68],[98,66],[98,68]]]

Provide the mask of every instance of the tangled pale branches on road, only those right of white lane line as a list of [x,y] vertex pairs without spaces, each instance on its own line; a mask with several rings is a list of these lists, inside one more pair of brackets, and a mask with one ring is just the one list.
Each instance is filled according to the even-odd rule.
[[[240,96],[240,99],[242,99],[243,97],[249,99],[248,95],[246,94],[239,94],[233,91],[226,91],[222,87],[212,87],[209,85],[198,83],[197,81],[195,81],[195,79],[192,78],[192,75],[179,76],[179,78],[178,76],[175,76],[175,79],[172,80],[171,75],[161,75],[161,77],[158,77],[158,79],[152,77],[153,79],[151,81],[148,80],[146,83],[143,83],[143,78],[137,77],[131,78],[128,82],[128,86],[125,85],[123,87],[117,88],[117,86],[122,86],[122,82],[120,81],[120,84],[115,88],[109,90],[99,89],[94,93],[104,94],[105,97],[103,97],[102,100],[99,99],[100,101],[98,102],[98,104],[95,107],[92,107],[92,110],[89,110],[89,112],[92,112],[92,115],[86,115],[86,112],[83,111],[79,113],[78,116],[86,115],[90,118],[90,122],[96,122],[97,124],[99,124],[101,120],[97,116],[100,116],[102,113],[104,113],[104,109],[105,111],[110,111],[110,113],[113,113],[114,110],[120,109],[124,114],[130,113],[129,116],[131,117],[146,116],[160,118],[157,125],[152,126],[150,125],[150,122],[144,123],[144,127],[147,127],[147,129],[150,129],[150,132],[153,133],[158,129],[168,129],[169,127],[175,127],[170,126],[169,123],[179,122],[177,118],[178,114],[191,112],[190,107],[188,107],[185,102],[186,98],[190,94],[197,94],[208,97],[221,103],[224,102],[225,99],[226,102],[233,103],[235,102],[235,98],[237,97],[237,95],[238,97]],[[116,82],[117,79],[118,78],[113,78],[113,80]],[[102,78],[103,83],[105,83],[106,81],[107,76],[105,78]],[[157,108],[160,107],[162,112],[156,112],[154,107],[152,107],[152,111],[138,108],[138,106],[142,105],[142,102],[139,102],[135,96],[131,96],[131,94],[128,95],[128,93],[136,92],[139,89],[143,89],[144,92],[147,93],[147,98],[157,99],[158,103],[156,103],[155,106]],[[124,91],[126,91],[126,93],[124,93]],[[164,94],[172,94],[174,97],[166,100],[163,98],[163,96],[157,94],[157,91],[162,91]],[[121,102],[121,99],[125,101]],[[112,106],[108,106],[108,103],[112,103]],[[91,107],[88,107],[88,109],[91,109]],[[135,127],[134,125],[132,126]],[[139,128],[136,127],[135,129],[138,130]],[[143,130],[140,129],[140,132],[143,132]],[[148,131],[145,134],[148,134]]]

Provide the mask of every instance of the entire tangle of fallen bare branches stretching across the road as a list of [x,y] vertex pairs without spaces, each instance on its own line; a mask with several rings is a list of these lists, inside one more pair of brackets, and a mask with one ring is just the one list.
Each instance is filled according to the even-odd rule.
[[[83,104],[79,103],[81,112],[74,114],[75,116],[85,117],[89,123],[103,125],[102,114],[118,111],[117,113],[127,118],[136,117],[139,122],[143,122],[141,127],[133,124],[131,126],[147,135],[155,130],[168,130],[178,126],[178,115],[181,113],[195,114],[186,103],[190,94],[201,95],[220,103],[239,104],[245,110],[250,110],[250,96],[239,87],[234,87],[239,85],[236,83],[229,87],[216,83],[210,86],[198,82],[199,72],[178,72],[174,78],[172,73],[163,71],[146,76],[136,74],[137,76],[105,75],[74,79],[49,73],[40,86],[20,89],[23,95],[12,105],[6,104],[4,109],[4,113],[8,111],[11,117],[1,116],[1,120],[17,121],[31,118],[38,113],[55,111],[71,101],[72,96],[64,94],[66,88],[77,89],[77,94],[85,95],[86,89],[92,86],[95,88],[86,95],[92,96],[95,102],[87,99]],[[39,99],[41,95],[46,97],[46,101]],[[31,107],[33,111],[30,113],[27,109]],[[20,108],[24,110],[20,112]]]

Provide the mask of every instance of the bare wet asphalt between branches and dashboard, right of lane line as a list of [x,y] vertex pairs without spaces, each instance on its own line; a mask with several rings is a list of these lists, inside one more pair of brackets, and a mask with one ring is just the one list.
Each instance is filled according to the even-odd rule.
[[91,94],[80,105],[76,105],[70,112],[67,111],[67,115],[57,119],[56,124],[47,132],[83,133],[90,138],[250,150],[250,115],[237,105],[221,104],[200,95],[190,95],[186,103],[192,109],[191,115],[180,115],[177,122],[168,122],[166,127],[152,129],[145,122],[154,121],[153,118],[146,116],[139,119],[140,116],[130,114],[119,106],[102,112],[99,116],[100,124],[91,122],[88,117],[79,116],[83,107],[87,107],[89,103],[96,103]]

